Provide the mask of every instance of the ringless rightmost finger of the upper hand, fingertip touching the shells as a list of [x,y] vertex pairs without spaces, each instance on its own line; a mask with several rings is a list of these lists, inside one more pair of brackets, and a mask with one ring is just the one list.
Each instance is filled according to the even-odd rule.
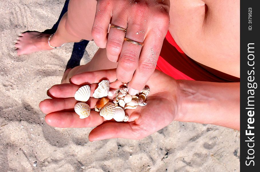
[[[144,40],[144,46],[139,57],[138,67],[134,72],[132,80],[128,83],[130,95],[136,95],[146,85],[156,68],[156,63],[162,48],[165,33],[151,32]],[[158,35],[154,37],[153,35]]]

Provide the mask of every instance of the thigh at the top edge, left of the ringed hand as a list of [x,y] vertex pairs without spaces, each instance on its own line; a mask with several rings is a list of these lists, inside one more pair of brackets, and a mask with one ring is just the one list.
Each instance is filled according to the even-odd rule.
[[77,37],[92,40],[91,30],[96,14],[96,0],[70,0],[66,27]]

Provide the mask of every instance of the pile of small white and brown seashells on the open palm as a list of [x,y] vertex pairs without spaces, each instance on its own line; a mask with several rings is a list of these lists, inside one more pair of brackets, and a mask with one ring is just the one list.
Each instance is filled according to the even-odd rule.
[[[106,120],[114,120],[118,122],[127,122],[129,120],[128,115],[125,114],[126,109],[136,109],[138,105],[145,106],[146,97],[150,93],[148,87],[137,95],[131,96],[128,94],[127,83],[123,83],[124,86],[119,89],[110,89],[110,83],[108,80],[103,80],[98,83],[98,88],[94,91],[93,97],[99,99],[95,106],[95,111],[99,112],[100,116]],[[90,106],[85,103],[90,98],[90,86],[84,85],[76,91],[74,98],[80,103],[74,106],[75,112],[81,119],[87,118],[90,115]]]

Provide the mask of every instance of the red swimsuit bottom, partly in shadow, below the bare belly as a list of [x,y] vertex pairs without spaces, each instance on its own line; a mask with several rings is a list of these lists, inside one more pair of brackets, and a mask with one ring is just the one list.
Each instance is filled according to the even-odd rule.
[[[239,78],[222,73],[223,78],[213,75],[188,57],[176,44],[168,31],[158,58],[156,69],[174,79],[211,81],[211,82],[239,82]],[[224,75],[223,75],[224,74]]]

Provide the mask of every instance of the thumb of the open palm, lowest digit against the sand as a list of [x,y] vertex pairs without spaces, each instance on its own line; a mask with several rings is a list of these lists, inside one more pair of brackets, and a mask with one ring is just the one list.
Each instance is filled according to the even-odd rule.
[[88,139],[91,142],[109,138],[141,139],[147,135],[149,134],[147,134],[145,130],[142,130],[142,128],[138,127],[134,122],[107,122],[94,128],[90,132]]

